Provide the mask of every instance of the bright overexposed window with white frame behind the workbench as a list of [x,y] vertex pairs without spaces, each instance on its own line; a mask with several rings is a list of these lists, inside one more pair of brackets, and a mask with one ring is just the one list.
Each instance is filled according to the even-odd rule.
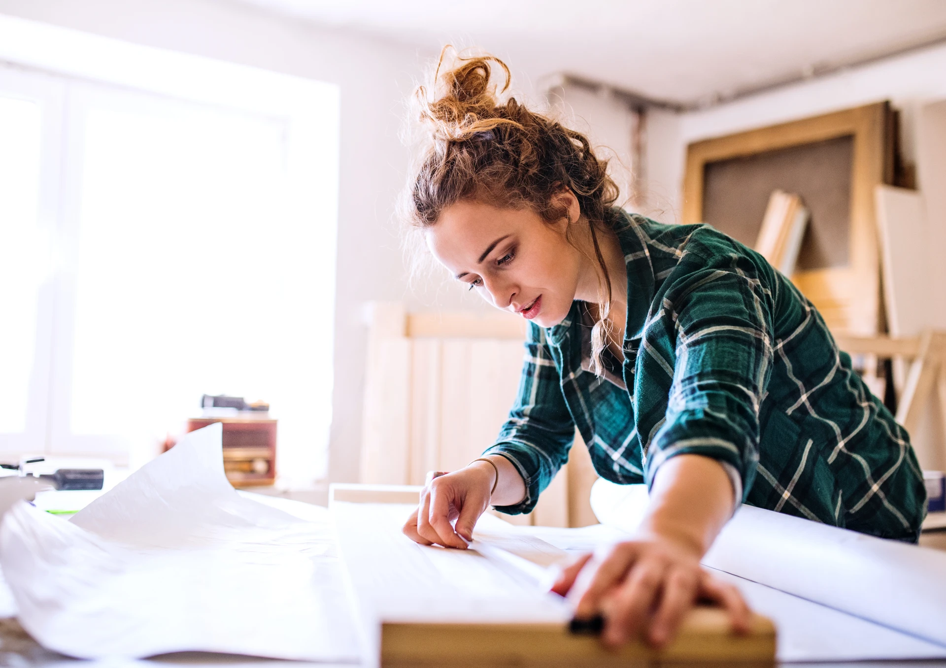
[[324,477],[337,89],[69,38],[187,71],[0,70],[0,448],[137,466],[227,393],[271,403],[285,483]]

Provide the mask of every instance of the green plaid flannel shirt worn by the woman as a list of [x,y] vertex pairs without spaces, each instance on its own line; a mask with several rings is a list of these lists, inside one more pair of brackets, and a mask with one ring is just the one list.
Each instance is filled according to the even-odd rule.
[[577,426],[614,483],[650,485],[671,457],[701,454],[738,471],[745,503],[916,541],[926,492],[909,436],[812,304],[709,225],[612,214],[628,389],[582,370],[580,302],[559,325],[530,324],[516,404],[484,453],[517,467],[526,497],[498,510],[534,508]]

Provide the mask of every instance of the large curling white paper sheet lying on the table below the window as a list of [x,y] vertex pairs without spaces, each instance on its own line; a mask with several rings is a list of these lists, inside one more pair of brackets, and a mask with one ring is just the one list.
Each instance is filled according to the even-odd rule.
[[303,520],[237,494],[219,424],[72,521],[15,506],[0,527],[0,565],[20,623],[69,656],[358,660],[327,511]]

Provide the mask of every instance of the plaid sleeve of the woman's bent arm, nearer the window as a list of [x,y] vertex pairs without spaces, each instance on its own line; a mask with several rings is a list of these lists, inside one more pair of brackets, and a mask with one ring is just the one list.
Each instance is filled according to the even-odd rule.
[[483,452],[502,455],[516,466],[525,482],[526,496],[516,505],[496,509],[509,515],[532,512],[539,494],[568,462],[574,435],[575,425],[545,332],[530,323],[516,403],[496,443]]

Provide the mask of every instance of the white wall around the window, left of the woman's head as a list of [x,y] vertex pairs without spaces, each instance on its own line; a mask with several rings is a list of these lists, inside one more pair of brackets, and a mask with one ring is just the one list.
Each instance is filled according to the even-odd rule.
[[[342,97],[335,389],[329,478],[359,469],[361,392],[369,300],[414,307],[460,294],[437,281],[408,290],[393,203],[405,178],[402,101],[425,59],[412,49],[323,30],[214,0],[0,0],[0,13],[138,44],[338,83]],[[327,295],[326,295],[327,296]],[[195,397],[195,401],[197,397]]]

